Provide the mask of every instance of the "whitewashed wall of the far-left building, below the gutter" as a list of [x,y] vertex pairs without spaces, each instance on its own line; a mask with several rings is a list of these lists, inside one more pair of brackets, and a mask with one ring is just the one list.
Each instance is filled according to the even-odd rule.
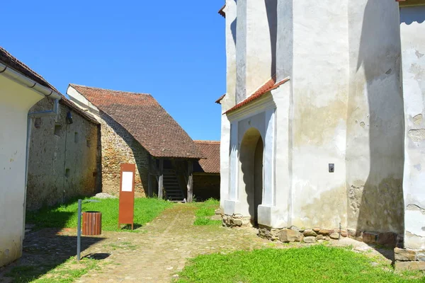
[[27,115],[42,98],[0,75],[0,267],[22,254]]

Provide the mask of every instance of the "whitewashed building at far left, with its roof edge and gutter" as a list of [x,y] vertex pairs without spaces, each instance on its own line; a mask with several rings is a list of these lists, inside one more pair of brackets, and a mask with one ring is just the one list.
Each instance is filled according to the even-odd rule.
[[[28,113],[46,96],[55,108]],[[30,121],[56,115],[60,99],[47,81],[0,47],[0,267],[22,254]]]

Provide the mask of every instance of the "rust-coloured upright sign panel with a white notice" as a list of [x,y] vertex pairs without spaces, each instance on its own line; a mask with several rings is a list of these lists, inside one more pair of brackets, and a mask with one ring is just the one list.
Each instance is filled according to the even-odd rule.
[[120,228],[121,224],[131,224],[131,229],[134,228],[135,172],[135,164],[121,164],[120,212],[118,214],[118,228]]

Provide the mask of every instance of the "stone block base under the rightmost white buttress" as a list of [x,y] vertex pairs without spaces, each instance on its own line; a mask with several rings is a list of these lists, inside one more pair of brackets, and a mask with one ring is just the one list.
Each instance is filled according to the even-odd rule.
[[425,270],[425,250],[394,249],[396,270]]

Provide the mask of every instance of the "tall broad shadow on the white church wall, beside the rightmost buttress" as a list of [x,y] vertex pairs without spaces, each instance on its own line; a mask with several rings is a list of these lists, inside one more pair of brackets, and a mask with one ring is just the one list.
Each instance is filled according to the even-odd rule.
[[[393,15],[394,21],[388,22],[388,15]],[[369,111],[363,111],[367,117],[362,116],[362,120],[348,120],[356,123],[354,132],[358,141],[366,141],[365,136],[369,137],[368,178],[365,183],[354,180],[348,184],[348,214],[358,215],[358,219],[354,219],[357,231],[403,233],[404,230],[404,112],[400,57],[396,4],[369,0],[364,11],[357,64],[357,71],[364,69],[366,86],[362,80],[356,82],[357,90],[365,88],[363,91],[367,91]],[[362,98],[363,93],[357,91],[356,96]],[[351,103],[355,99],[351,98]],[[358,105],[354,106],[353,109]],[[360,108],[363,105],[356,110]],[[367,158],[353,155],[357,159],[351,161],[357,163],[354,170],[363,168],[361,161]]]

